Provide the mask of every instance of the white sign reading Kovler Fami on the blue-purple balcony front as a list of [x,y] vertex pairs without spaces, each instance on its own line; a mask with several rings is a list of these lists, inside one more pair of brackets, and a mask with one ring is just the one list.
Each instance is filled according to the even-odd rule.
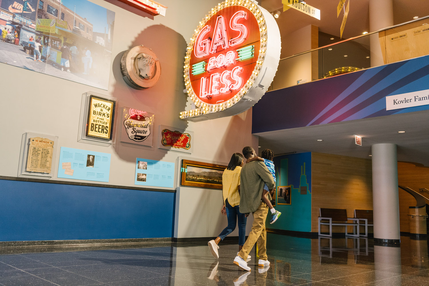
[[386,96],[386,110],[429,104],[429,89]]

